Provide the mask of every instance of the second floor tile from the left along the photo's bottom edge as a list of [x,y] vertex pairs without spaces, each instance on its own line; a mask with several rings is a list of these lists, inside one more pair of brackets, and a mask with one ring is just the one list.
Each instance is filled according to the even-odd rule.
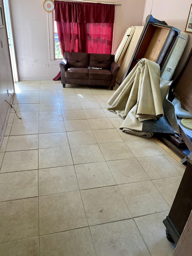
[[96,256],[88,227],[40,237],[41,256],[90,255]]

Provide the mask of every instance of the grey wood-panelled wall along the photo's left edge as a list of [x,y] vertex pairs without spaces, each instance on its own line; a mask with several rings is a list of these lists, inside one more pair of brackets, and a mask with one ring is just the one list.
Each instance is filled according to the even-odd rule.
[[[10,94],[14,93],[13,74],[10,62],[9,45],[7,39],[6,24],[4,19],[3,1],[0,0],[3,28],[0,28],[0,146],[7,125],[7,119],[10,112],[10,105],[13,99]],[[8,103],[7,103],[7,102]]]

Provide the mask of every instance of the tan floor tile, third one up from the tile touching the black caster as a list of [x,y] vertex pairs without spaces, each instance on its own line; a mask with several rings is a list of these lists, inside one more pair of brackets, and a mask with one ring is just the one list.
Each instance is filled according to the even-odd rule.
[[135,158],[125,142],[99,144],[106,161]]

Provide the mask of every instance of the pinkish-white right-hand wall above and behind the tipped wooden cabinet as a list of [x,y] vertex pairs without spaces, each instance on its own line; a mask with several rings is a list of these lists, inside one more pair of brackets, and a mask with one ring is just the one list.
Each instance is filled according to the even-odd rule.
[[[147,15],[151,13],[152,9],[151,14],[153,17],[158,20],[164,20],[169,26],[174,26],[184,32],[191,3],[191,0],[146,0],[143,25],[145,24]],[[175,75],[178,74],[182,68],[192,47],[192,33],[187,34],[189,35],[189,41],[175,71]]]

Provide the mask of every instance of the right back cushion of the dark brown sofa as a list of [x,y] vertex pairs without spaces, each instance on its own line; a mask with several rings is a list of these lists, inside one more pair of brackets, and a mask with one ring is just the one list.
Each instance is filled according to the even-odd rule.
[[110,54],[94,54],[90,53],[89,66],[91,68],[106,68],[110,69],[111,55]]

